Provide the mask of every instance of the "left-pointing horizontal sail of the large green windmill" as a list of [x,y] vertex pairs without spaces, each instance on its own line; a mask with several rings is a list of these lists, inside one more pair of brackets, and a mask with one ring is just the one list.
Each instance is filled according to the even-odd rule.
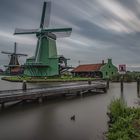
[[38,32],[38,29],[15,29],[14,35],[22,35],[22,34],[36,34]]

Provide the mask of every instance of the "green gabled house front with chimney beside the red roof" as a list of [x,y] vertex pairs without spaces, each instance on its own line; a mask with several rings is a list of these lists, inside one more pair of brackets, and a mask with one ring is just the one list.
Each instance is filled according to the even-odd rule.
[[102,78],[111,78],[118,73],[118,68],[112,64],[112,59],[108,59],[108,62],[100,68],[102,72]]

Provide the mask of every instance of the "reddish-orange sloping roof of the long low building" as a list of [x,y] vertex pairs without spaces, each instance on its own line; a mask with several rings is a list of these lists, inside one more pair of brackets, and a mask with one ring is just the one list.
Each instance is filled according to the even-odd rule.
[[99,71],[100,68],[103,65],[104,64],[86,64],[86,65],[79,65],[72,72],[92,72],[92,71]]

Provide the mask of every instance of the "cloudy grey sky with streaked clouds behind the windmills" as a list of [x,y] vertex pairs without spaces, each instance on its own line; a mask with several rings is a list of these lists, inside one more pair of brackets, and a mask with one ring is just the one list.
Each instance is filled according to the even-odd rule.
[[[13,36],[16,27],[38,28],[44,0],[0,0],[0,51],[34,55],[35,35]],[[70,58],[70,65],[100,63],[127,64],[140,70],[140,0],[51,0],[50,28],[72,27],[69,38],[57,40],[58,54]],[[8,63],[0,54],[0,65]],[[20,58],[24,63],[26,58]]]

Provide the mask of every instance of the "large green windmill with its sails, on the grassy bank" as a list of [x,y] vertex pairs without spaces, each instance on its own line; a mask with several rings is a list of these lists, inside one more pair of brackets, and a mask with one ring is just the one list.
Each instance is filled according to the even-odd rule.
[[24,74],[27,76],[59,75],[59,58],[56,39],[69,37],[72,28],[47,28],[50,21],[51,2],[44,2],[39,29],[18,29],[15,35],[36,34],[38,38],[35,56],[28,58],[24,64]]

